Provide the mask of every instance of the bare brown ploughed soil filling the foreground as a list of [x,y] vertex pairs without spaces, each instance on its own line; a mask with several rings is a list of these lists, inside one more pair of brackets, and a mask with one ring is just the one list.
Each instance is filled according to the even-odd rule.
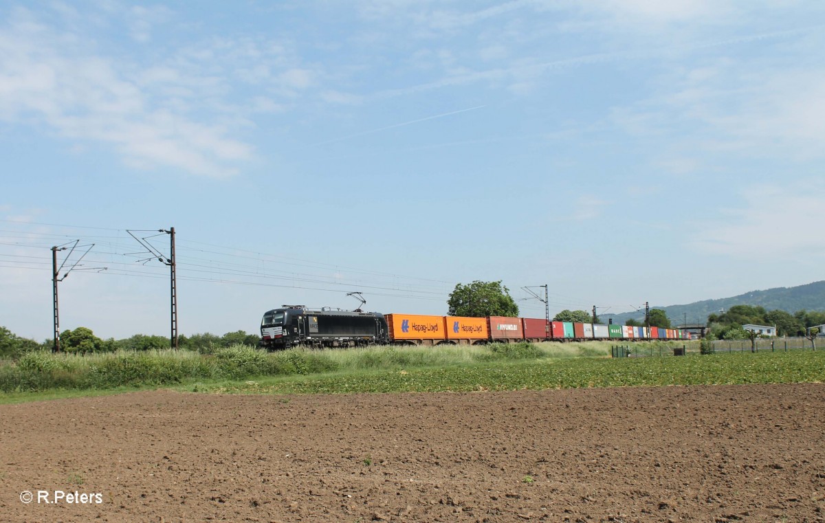
[[3,405],[0,521],[823,521],[823,405],[822,384]]

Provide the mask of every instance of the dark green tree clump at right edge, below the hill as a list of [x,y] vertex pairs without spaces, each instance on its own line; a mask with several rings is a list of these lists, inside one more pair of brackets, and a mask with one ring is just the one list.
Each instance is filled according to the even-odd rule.
[[753,305],[733,305],[723,313],[708,316],[708,335],[719,340],[747,339],[743,325],[764,325],[776,327],[777,336],[805,336],[809,327],[825,324],[825,312],[798,310],[787,311]]

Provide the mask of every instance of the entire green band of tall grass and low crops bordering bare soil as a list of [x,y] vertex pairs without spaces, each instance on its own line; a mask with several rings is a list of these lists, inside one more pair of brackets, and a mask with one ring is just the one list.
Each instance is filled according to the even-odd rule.
[[609,350],[609,343],[596,342],[277,353],[234,346],[210,356],[186,351],[31,353],[15,365],[0,366],[0,403],[157,387],[227,393],[392,393],[825,379],[825,351],[614,360],[604,357]]

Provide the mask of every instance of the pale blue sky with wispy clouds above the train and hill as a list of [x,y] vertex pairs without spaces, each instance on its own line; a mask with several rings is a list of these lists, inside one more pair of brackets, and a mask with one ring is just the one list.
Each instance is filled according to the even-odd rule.
[[75,240],[61,328],[167,334],[127,229],[176,229],[186,334],[472,280],[551,314],[801,285],[825,3],[3,2],[0,154],[0,325],[38,340]]

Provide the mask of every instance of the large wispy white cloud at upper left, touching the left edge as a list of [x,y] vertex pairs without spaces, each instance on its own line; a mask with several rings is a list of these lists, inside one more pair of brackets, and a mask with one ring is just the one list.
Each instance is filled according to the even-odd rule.
[[224,126],[171,111],[170,92],[191,96],[193,75],[157,66],[144,76],[91,48],[77,35],[61,35],[27,16],[0,29],[0,119],[35,120],[68,139],[114,144],[130,164],[142,167],[220,177],[252,157],[252,147],[228,138]]

